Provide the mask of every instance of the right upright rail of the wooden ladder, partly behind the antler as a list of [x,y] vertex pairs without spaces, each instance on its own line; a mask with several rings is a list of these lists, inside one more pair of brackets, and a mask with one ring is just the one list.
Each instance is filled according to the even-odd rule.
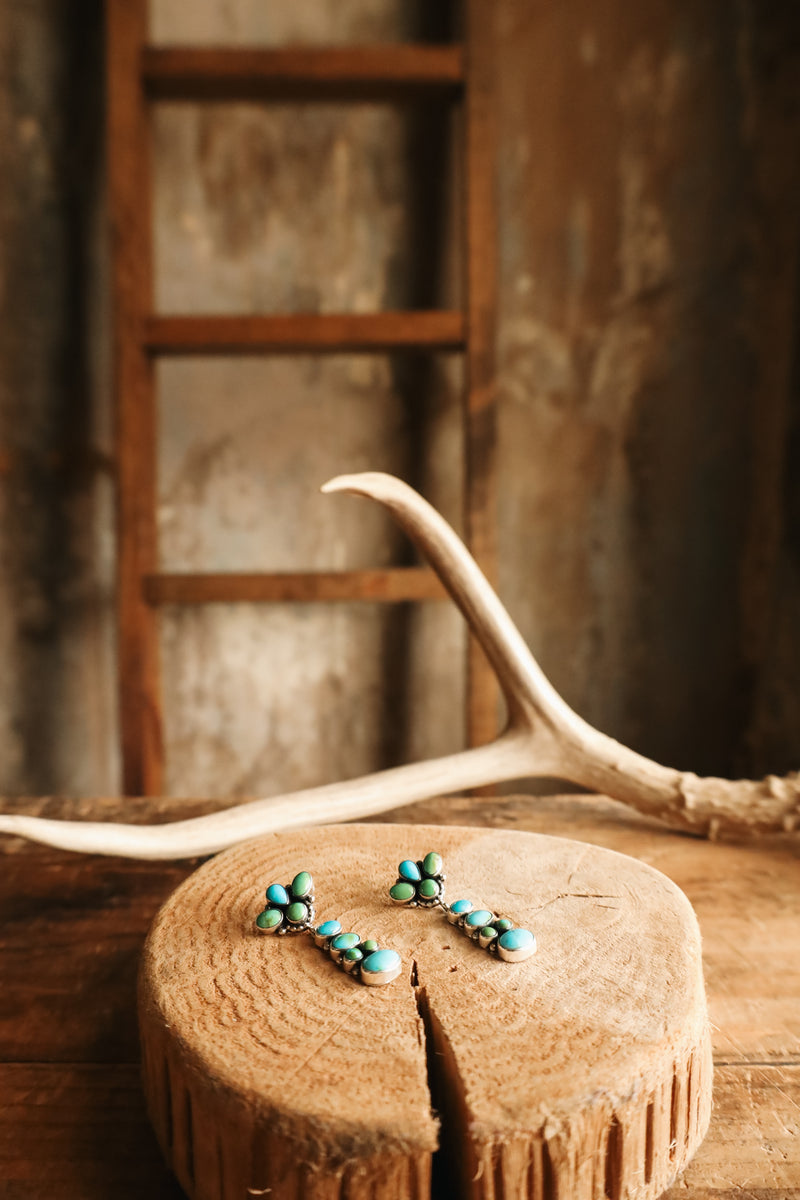
[[[497,216],[494,170],[494,5],[464,0],[465,311],[464,532],[467,545],[494,583],[497,577]],[[491,742],[498,727],[499,690],[483,652],[469,640],[467,739]]]

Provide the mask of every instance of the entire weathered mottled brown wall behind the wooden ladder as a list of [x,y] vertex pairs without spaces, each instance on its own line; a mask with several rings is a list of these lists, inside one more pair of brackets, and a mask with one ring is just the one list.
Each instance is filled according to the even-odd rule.
[[[68,7],[0,10],[6,792],[118,787],[101,4]],[[154,35],[371,41],[426,19],[399,0],[187,8],[157,0]],[[494,12],[503,593],[607,732],[700,772],[796,767],[800,10]],[[164,106],[160,305],[432,302],[452,274],[429,218],[446,198],[410,166],[441,137],[378,109]],[[167,566],[398,560],[363,504],[315,497],[342,469],[395,469],[457,517],[452,365],[176,361],[160,385]],[[175,611],[163,642],[174,792],[267,792],[458,743],[444,610]]]

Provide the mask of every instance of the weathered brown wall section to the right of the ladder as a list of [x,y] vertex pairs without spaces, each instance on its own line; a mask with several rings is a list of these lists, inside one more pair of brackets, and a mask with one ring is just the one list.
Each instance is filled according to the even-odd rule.
[[800,10],[511,0],[499,23],[504,590],[608,732],[789,768]]

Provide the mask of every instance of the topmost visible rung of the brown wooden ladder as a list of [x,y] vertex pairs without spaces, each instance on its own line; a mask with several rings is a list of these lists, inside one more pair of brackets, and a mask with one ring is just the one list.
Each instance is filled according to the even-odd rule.
[[161,100],[368,100],[456,91],[461,46],[205,49],[148,47],[142,76]]

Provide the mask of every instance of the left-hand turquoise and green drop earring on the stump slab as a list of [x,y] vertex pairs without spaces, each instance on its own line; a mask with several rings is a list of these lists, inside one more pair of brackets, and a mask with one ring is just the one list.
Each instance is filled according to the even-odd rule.
[[314,881],[300,871],[291,883],[270,883],[266,908],[255,918],[259,934],[308,934],[342,971],[371,988],[397,979],[402,964],[397,950],[381,949],[373,938],[348,934],[339,920],[314,926]]

